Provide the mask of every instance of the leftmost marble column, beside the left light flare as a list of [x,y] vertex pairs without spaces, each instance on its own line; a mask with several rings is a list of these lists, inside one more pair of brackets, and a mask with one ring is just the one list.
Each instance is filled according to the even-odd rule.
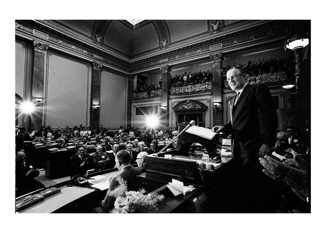
[[[30,114],[29,128],[39,130],[43,125],[43,113],[44,113],[44,64],[46,55],[45,52],[49,48],[49,45],[43,44],[33,40],[34,54],[33,54],[33,66],[32,66],[32,79],[31,79],[31,99],[30,101],[36,103],[36,111]],[[43,101],[37,101],[35,98],[42,98]]]

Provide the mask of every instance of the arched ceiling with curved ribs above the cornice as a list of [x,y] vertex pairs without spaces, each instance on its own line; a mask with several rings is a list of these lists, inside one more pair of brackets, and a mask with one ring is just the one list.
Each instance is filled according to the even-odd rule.
[[[126,20],[53,20],[51,23],[103,49],[134,59],[203,37],[209,20],[144,20],[132,25]],[[166,44],[164,42],[166,41]]]

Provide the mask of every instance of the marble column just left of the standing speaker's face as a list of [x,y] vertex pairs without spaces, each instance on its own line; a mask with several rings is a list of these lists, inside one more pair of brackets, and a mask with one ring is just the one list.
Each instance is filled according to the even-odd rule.
[[[213,127],[215,125],[223,125],[223,103],[222,103],[222,84],[223,84],[223,54],[211,54],[210,58],[213,63],[213,79],[212,79],[212,103],[213,106]],[[227,107],[227,106],[226,106]]]

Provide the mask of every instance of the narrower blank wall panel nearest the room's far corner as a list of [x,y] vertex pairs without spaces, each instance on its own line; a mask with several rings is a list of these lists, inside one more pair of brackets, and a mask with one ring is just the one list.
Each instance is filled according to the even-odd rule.
[[109,128],[125,125],[125,79],[103,71],[101,74],[100,123]]

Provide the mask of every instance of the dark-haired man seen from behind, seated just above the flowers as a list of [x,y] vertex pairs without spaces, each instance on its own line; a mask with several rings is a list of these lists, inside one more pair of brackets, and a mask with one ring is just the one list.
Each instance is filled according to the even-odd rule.
[[[130,155],[126,150],[121,150],[115,157],[115,163],[120,172],[119,176],[127,181],[127,191],[138,191],[141,189],[141,182],[137,178],[141,174],[141,169],[130,165]],[[114,176],[110,181],[108,192],[118,187],[119,183]],[[97,212],[105,212],[105,210],[112,210],[114,207],[115,197],[106,194],[104,200],[101,202],[101,207],[104,211],[97,208]]]

